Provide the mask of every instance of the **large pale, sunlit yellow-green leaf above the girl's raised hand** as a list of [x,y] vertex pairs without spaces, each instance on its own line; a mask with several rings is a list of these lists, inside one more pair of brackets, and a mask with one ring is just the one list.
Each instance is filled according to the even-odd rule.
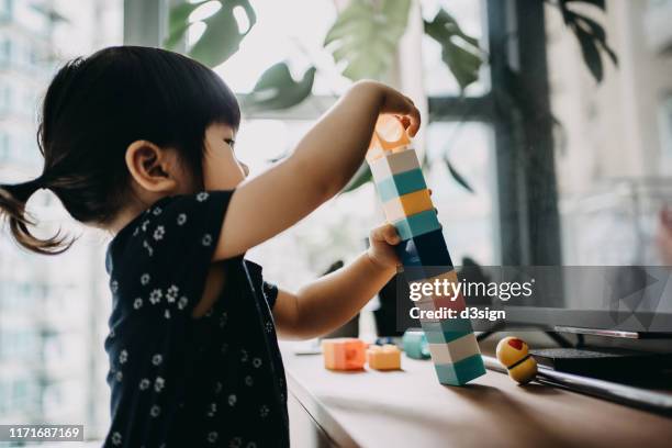
[[408,21],[411,0],[352,0],[328,31],[324,46],[344,63],[349,79],[383,80]]

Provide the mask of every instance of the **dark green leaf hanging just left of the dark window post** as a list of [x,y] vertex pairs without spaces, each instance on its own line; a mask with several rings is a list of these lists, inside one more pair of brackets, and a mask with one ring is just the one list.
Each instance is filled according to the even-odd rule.
[[441,59],[464,90],[479,79],[481,51],[479,41],[467,35],[443,8],[432,22],[425,22],[425,33],[441,45]]

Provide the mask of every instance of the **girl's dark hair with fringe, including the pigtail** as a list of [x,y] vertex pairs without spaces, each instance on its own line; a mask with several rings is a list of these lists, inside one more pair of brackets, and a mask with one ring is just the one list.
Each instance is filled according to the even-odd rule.
[[0,184],[0,212],[13,237],[41,254],[66,250],[59,233],[40,239],[25,203],[40,188],[52,190],[82,223],[105,224],[127,201],[128,145],[138,139],[175,147],[202,183],[205,128],[237,128],[235,96],[211,69],[177,53],[119,46],[79,57],[58,70],[44,98],[37,144],[44,156],[40,177]]

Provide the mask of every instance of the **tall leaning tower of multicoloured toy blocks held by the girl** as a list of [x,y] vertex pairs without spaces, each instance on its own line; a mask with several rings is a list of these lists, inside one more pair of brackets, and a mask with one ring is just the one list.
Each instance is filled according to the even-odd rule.
[[[367,161],[373,175],[385,217],[402,243],[396,253],[408,282],[448,279],[457,273],[448,254],[421,164],[405,130],[394,116],[381,115]],[[430,296],[416,303],[421,310],[464,309],[457,298]],[[485,373],[471,322],[464,318],[421,320],[441,384],[461,385]]]

